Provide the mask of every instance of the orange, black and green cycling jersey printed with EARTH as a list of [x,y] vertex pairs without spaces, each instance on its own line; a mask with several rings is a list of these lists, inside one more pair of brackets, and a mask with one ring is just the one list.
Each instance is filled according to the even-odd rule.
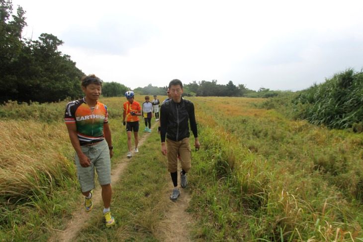
[[107,107],[97,102],[94,108],[90,108],[85,98],[72,101],[67,104],[64,121],[76,123],[81,145],[95,143],[104,139],[103,124],[108,122]]

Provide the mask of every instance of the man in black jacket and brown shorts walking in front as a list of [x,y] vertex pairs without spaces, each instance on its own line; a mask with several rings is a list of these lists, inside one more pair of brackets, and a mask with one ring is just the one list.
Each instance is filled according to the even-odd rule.
[[[174,79],[169,83],[172,100],[164,103],[160,110],[161,152],[168,157],[168,171],[172,177],[174,190],[170,199],[176,201],[180,195],[178,189],[178,153],[181,157],[181,187],[187,184],[186,172],[191,167],[191,148],[189,144],[189,125],[194,135],[194,146],[199,149],[198,131],[195,122],[194,105],[181,98],[183,85]],[[165,142],[165,139],[167,142]]]

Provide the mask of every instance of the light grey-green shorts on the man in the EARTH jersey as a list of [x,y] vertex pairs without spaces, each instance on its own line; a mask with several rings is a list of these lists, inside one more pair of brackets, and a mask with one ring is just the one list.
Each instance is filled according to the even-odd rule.
[[88,192],[95,188],[94,186],[94,168],[98,175],[100,185],[111,183],[111,159],[110,151],[106,140],[102,140],[91,146],[81,146],[82,152],[90,158],[91,165],[82,167],[80,159],[76,153],[75,162],[77,166],[77,176],[80,181],[82,192]]

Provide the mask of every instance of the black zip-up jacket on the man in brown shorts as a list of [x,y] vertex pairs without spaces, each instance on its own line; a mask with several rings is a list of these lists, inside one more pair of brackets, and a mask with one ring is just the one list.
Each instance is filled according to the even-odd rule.
[[161,141],[165,142],[165,136],[174,141],[189,137],[188,121],[194,137],[198,137],[193,103],[184,99],[180,103],[173,100],[164,103],[160,109]]

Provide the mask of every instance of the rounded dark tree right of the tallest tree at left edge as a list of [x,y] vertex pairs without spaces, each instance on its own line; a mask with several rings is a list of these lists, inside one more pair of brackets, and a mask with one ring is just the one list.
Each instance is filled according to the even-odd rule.
[[58,51],[63,41],[42,33],[39,40],[27,41],[20,55],[17,101],[55,102],[82,97],[80,79],[84,73],[68,55]]

